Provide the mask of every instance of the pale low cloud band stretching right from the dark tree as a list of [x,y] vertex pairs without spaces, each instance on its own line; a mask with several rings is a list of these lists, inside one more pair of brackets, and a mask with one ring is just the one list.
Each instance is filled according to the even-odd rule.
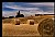
[[50,11],[50,12],[43,12],[43,11],[30,11],[30,12],[22,12],[22,14],[24,14],[25,16],[30,16],[30,15],[35,15],[35,14],[54,14],[54,12]]

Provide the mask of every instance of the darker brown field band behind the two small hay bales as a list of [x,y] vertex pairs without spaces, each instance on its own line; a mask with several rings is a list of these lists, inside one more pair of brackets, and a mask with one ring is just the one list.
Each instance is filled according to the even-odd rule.
[[[19,17],[18,20],[20,20],[20,23],[21,24],[26,24],[26,21],[28,20],[34,20],[35,24],[40,23],[40,21],[42,21],[43,18],[46,18],[46,17],[53,17],[53,16],[28,16],[28,17]],[[14,24],[15,23],[15,18],[6,18],[6,20],[2,20],[2,23],[12,23]]]

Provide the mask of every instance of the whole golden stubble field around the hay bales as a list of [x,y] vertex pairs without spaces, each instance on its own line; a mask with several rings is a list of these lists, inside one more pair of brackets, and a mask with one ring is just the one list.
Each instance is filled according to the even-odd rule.
[[[7,37],[42,37],[40,35],[37,27],[38,24],[44,20],[44,18],[53,18],[53,16],[33,16],[33,17],[18,17],[20,20],[20,25],[15,25],[15,20],[16,18],[4,18],[2,20],[2,36]],[[28,20],[34,20],[34,25],[30,25]],[[47,36],[44,36],[47,37]],[[52,36],[48,36],[52,37]]]

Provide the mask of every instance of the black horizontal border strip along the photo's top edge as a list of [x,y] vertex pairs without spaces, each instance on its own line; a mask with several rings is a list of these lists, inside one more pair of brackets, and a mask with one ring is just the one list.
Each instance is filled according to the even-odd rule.
[[2,2],[54,2],[54,0],[2,0]]

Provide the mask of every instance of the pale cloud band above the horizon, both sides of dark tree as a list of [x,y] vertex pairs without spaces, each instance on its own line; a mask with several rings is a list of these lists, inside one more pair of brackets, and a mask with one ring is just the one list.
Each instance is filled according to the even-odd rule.
[[[13,11],[13,12],[11,12],[11,11],[3,11],[2,12],[2,16],[10,16],[10,15],[15,16],[16,12],[18,11]],[[52,11],[50,11],[50,12],[43,12],[43,11],[30,11],[30,12],[25,12],[25,11],[21,11],[20,13],[24,14],[24,16],[35,15],[35,14],[54,14],[54,12],[52,12]]]

